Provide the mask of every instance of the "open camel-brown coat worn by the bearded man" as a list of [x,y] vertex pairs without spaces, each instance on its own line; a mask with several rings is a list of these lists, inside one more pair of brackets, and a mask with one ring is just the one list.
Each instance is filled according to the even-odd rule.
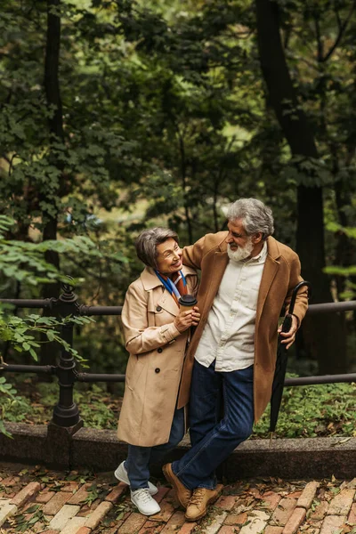
[[[201,270],[198,307],[201,319],[192,337],[184,368],[178,408],[189,401],[191,369],[199,339],[206,325],[223,272],[229,262],[225,239],[228,232],[207,234],[197,243],[183,249],[183,262]],[[298,256],[276,239],[267,239],[268,254],[263,268],[255,320],[254,405],[255,422],[262,416],[271,399],[271,384],[276,364],[278,321],[283,304],[290,302],[292,289],[301,278]],[[308,307],[307,290],[303,287],[295,302],[294,314],[303,320]]]

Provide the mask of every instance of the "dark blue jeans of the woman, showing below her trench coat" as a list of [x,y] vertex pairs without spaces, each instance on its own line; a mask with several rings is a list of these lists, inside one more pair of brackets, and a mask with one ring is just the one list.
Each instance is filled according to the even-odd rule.
[[160,462],[170,449],[178,445],[182,441],[184,431],[184,409],[176,409],[167,443],[155,445],[154,447],[128,446],[125,469],[132,491],[149,487],[150,464]]

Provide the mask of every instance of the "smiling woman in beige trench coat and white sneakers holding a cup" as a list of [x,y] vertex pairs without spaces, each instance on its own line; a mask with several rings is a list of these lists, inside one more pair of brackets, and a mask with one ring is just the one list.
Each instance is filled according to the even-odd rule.
[[150,463],[162,459],[185,433],[185,407],[177,409],[182,365],[190,327],[198,308],[180,312],[180,295],[195,295],[196,271],[182,265],[174,231],[142,231],[136,252],[146,268],[128,288],[122,311],[125,346],[130,357],[117,436],[128,455],[115,476],[130,485],[131,500],[142,514],[157,514],[158,492],[149,482]]

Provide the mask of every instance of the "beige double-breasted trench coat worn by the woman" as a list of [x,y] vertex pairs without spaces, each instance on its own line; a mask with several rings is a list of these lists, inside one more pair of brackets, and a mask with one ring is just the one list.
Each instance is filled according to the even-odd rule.
[[[196,295],[196,271],[182,271],[188,293]],[[174,298],[146,267],[128,288],[122,311],[130,357],[117,436],[131,445],[152,447],[169,439],[188,338],[188,330],[180,334],[174,327],[178,313]]]

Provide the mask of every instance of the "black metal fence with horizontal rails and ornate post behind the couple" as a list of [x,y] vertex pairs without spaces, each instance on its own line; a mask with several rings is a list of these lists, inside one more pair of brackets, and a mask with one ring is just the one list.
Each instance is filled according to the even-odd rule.
[[[62,286],[62,294],[49,299],[1,299],[1,303],[13,304],[17,308],[49,309],[56,317],[121,315],[122,306],[86,306],[78,303],[73,287]],[[356,301],[344,303],[311,304],[308,315],[319,313],[348,312],[356,310]],[[61,337],[70,347],[73,346],[73,322],[67,322],[61,327]],[[76,382],[124,382],[125,375],[94,374],[77,371],[77,362],[71,352],[61,346],[61,355],[57,365],[12,365],[0,364],[1,373],[36,373],[58,377],[59,401],[53,408],[53,424],[69,428],[78,424],[79,410],[73,401],[73,389]],[[304,376],[287,378],[285,385],[311,385],[356,382],[356,373],[346,375]]]

